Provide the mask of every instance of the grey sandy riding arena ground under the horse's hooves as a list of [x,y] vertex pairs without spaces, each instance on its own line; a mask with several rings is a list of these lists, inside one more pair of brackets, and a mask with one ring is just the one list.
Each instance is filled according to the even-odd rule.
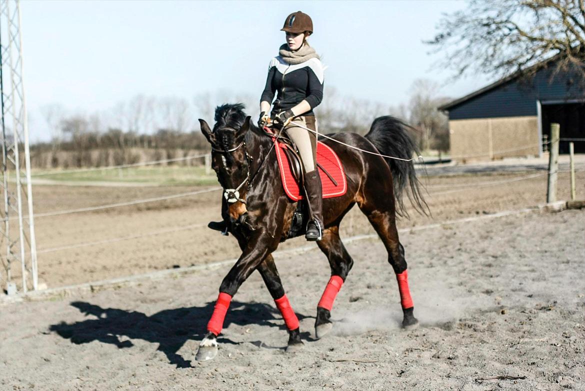
[[[447,215],[486,210],[450,205],[455,213]],[[225,266],[68,300],[3,306],[1,388],[585,389],[584,211],[484,218],[413,231],[401,240],[417,330],[398,327],[400,298],[381,242],[356,241],[347,246],[355,267],[333,308],[333,332],[319,341],[313,324],[329,275],[324,256],[309,251],[277,258],[301,319],[305,347],[297,354],[284,352],[283,321],[254,273],[232,302],[218,357],[194,361]]]

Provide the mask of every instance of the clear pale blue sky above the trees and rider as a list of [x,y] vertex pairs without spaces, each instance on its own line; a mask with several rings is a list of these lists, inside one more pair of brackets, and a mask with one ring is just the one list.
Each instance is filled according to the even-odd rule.
[[[398,105],[417,78],[448,78],[432,70],[438,57],[422,40],[434,35],[441,13],[464,6],[441,0],[23,1],[31,138],[48,138],[39,112],[46,104],[91,113],[141,93],[189,102],[216,91],[259,97],[270,58],[284,42],[284,19],[298,10],[311,15],[311,44],[328,66],[325,99],[334,86],[342,95]],[[441,93],[460,97],[487,83],[468,78],[443,84]]]

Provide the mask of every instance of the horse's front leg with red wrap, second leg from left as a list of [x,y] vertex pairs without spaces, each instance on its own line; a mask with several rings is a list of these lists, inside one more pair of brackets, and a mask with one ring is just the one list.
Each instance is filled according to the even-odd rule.
[[284,323],[287,325],[287,352],[295,351],[303,345],[298,318],[288,303],[287,296],[284,293],[283,283],[278,275],[278,270],[276,269],[276,264],[274,263],[272,255],[267,256],[264,262],[260,263],[258,266],[258,272],[260,272],[260,275],[270,292],[270,296],[274,299],[274,303],[276,303],[278,310],[280,310],[280,313],[283,315]]

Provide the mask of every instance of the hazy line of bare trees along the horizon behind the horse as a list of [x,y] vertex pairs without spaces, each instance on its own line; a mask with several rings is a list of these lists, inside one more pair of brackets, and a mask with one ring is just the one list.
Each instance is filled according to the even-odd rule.
[[[390,107],[382,102],[345,97],[329,87],[324,102],[316,109],[319,131],[365,134],[374,118],[390,114],[412,126],[419,150],[447,152],[448,120],[436,109],[447,99],[439,97],[438,90],[431,81],[417,80],[408,102]],[[225,92],[197,95],[192,104],[181,98],[137,95],[107,111],[91,114],[46,105],[41,111],[51,129],[51,140],[31,147],[31,163],[45,168],[105,167],[196,155],[209,150],[196,118],[213,122],[215,106],[224,102],[243,102],[248,114],[253,118],[258,115],[255,98]],[[184,160],[169,164],[201,163]]]

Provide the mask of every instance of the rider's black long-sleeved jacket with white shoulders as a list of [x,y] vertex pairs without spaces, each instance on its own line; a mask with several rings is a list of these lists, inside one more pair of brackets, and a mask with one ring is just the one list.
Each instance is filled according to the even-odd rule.
[[290,109],[306,100],[311,110],[303,115],[315,115],[313,109],[323,99],[323,66],[319,59],[309,59],[301,64],[285,63],[282,57],[274,57],[270,61],[266,87],[260,101],[272,103],[278,91],[273,114]]

